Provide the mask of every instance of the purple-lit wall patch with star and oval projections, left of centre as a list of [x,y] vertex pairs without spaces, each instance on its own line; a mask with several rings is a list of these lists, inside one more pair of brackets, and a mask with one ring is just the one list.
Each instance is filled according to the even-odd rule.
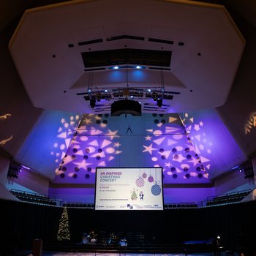
[[61,155],[62,162],[56,170],[55,181],[94,183],[96,167],[107,166],[121,153],[117,132],[108,129],[108,114],[84,115],[78,129],[68,135],[71,141]]

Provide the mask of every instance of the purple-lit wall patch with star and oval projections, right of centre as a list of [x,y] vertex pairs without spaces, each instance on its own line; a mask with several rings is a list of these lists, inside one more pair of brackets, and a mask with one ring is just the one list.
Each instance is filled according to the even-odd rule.
[[156,118],[154,124],[154,129],[146,129],[148,135],[142,152],[150,155],[155,167],[162,166],[165,184],[208,183],[202,157],[197,154],[179,116],[165,115],[161,121]]

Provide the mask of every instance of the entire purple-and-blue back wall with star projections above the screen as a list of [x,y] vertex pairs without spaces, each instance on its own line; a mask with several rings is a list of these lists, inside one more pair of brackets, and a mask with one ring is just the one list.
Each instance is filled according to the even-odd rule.
[[[61,152],[55,153],[59,163],[55,182],[94,184],[96,167],[127,167],[124,158],[129,167],[162,167],[165,184],[209,182],[203,165],[208,166],[209,160],[199,156],[177,114],[131,118],[133,132],[128,137],[121,132],[127,127],[127,118],[86,114],[78,127],[61,120],[59,138],[63,143],[56,143]],[[192,125],[200,132],[203,122]],[[205,138],[200,136],[203,143]]]

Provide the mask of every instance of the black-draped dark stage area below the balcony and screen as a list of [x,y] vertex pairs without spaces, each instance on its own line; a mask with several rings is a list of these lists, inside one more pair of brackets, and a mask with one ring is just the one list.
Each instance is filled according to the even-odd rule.
[[[66,222],[63,206],[12,200],[0,203],[9,255],[27,252],[37,239],[42,240],[44,251],[51,252],[215,253],[220,247],[213,239],[219,235],[224,253],[255,252],[255,201],[146,212],[70,207]],[[70,233],[70,238],[59,241],[59,230],[65,236]],[[96,241],[83,244],[83,233],[91,230],[97,234]]]

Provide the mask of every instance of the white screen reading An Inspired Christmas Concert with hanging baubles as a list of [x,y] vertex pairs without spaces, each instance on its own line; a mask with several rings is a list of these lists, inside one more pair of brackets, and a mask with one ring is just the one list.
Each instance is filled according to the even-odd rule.
[[162,210],[162,167],[96,169],[96,210]]

